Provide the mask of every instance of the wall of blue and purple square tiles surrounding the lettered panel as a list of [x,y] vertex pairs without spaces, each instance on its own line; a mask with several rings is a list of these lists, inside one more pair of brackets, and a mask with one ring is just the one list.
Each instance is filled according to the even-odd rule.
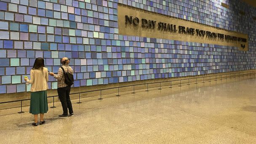
[[[249,51],[118,35],[118,3],[248,34]],[[22,77],[37,57],[55,73],[69,57],[74,87],[255,69],[253,16],[241,0],[0,0],[0,93],[30,91]]]

